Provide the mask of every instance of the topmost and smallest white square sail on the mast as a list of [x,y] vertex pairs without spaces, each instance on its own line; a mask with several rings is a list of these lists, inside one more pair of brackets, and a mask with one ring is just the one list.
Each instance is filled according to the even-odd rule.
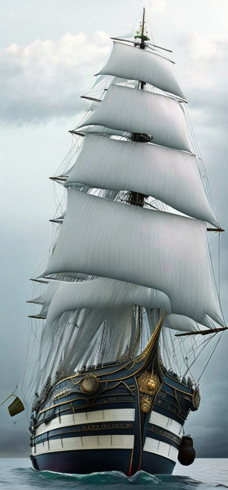
[[114,41],[111,55],[97,75],[140,80],[184,98],[172,61],[129,44]]

